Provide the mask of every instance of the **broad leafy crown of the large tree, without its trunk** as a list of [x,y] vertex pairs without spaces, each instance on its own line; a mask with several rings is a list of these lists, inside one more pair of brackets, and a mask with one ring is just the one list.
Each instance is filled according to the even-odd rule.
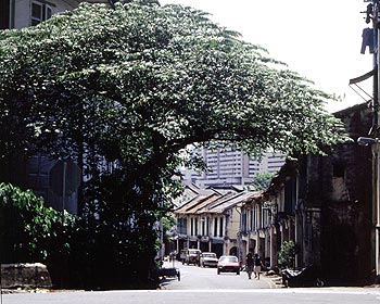
[[40,139],[103,139],[134,162],[212,139],[286,153],[341,139],[325,93],[190,8],[83,4],[0,38],[1,121],[18,102]]

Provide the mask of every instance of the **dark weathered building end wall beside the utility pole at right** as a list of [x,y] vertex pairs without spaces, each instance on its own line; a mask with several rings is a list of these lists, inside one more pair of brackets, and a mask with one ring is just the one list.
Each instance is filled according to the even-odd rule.
[[372,155],[370,147],[356,142],[368,135],[372,113],[359,104],[335,116],[353,141],[339,144],[329,156],[299,157],[297,263],[320,264],[331,284],[372,282]]

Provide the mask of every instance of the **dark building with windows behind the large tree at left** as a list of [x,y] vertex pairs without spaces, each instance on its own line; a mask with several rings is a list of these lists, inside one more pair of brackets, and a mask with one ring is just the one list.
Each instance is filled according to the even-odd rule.
[[[20,29],[38,25],[53,14],[74,10],[80,2],[85,1],[0,0],[0,29]],[[103,0],[88,2],[107,3]],[[51,185],[51,170],[56,165],[58,160],[52,160],[48,155],[17,156],[14,160],[7,160],[5,163],[0,162],[0,175],[5,182],[12,182],[22,189],[31,189],[37,195],[41,195],[49,206],[77,214],[78,191],[65,191],[63,195],[61,191],[54,191]],[[64,178],[61,175],[55,179],[64,179],[66,185],[73,185],[77,176],[67,173]]]

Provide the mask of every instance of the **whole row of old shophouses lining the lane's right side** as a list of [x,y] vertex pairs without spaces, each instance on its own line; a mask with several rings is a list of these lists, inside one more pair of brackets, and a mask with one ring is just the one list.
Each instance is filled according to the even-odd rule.
[[259,192],[239,188],[186,188],[174,215],[172,248],[195,248],[242,262],[249,251],[278,267],[284,241],[295,243],[295,267],[321,267],[330,284],[364,284],[375,278],[372,155],[356,139],[371,126],[359,104],[335,113],[353,139],[327,155],[292,155]]

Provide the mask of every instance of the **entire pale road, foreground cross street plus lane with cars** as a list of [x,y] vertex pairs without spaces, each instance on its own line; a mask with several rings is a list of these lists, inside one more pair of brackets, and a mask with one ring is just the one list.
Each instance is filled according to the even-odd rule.
[[[165,263],[165,267],[173,264]],[[216,274],[215,268],[181,265],[176,262],[181,278],[167,278],[161,290],[128,290],[97,292],[47,292],[47,293],[14,293],[3,294],[0,304],[227,304],[231,302],[261,304],[278,303],[320,303],[320,304],[366,304],[380,301],[380,290],[377,288],[281,288],[276,280],[265,276],[261,280],[248,279],[246,273]]]

